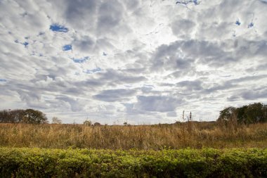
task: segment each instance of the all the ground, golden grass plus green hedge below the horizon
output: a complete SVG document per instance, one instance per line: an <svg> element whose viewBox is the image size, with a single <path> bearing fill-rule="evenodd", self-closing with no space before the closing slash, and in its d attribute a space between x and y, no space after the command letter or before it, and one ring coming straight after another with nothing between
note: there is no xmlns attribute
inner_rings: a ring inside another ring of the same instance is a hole
<svg viewBox="0 0 267 178"><path fill-rule="evenodd" d="M0 124L0 177L267 177L267 124Z"/></svg>

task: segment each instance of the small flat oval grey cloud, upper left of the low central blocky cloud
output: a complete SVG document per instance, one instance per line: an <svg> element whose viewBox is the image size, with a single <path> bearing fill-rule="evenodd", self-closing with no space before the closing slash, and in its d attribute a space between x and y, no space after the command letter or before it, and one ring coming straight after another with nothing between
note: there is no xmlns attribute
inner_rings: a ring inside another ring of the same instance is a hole
<svg viewBox="0 0 267 178"><path fill-rule="evenodd" d="M136 94L136 91L133 89L109 89L104 90L93 97L100 101L115 102L124 101L126 98L129 98L134 94Z"/></svg>

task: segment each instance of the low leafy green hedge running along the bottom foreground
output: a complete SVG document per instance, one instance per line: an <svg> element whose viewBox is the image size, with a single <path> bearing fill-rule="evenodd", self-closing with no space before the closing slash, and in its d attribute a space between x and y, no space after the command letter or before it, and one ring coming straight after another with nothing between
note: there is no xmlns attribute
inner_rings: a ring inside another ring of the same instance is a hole
<svg viewBox="0 0 267 178"><path fill-rule="evenodd" d="M0 177L267 177L267 149L0 148Z"/></svg>

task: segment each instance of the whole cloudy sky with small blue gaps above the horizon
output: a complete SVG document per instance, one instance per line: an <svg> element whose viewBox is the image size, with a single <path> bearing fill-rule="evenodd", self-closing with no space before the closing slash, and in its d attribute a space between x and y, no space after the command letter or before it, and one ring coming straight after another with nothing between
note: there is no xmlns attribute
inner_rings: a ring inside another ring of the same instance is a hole
<svg viewBox="0 0 267 178"><path fill-rule="evenodd" d="M216 120L267 101L266 0L0 0L0 110Z"/></svg>

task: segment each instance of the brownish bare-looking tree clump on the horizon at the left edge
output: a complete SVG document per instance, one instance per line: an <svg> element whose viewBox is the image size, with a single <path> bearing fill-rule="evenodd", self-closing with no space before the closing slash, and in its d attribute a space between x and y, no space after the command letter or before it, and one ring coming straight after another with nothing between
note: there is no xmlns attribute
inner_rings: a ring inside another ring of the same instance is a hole
<svg viewBox="0 0 267 178"><path fill-rule="evenodd" d="M44 124L47 123L47 118L46 115L39 110L1 110L0 122Z"/></svg>

